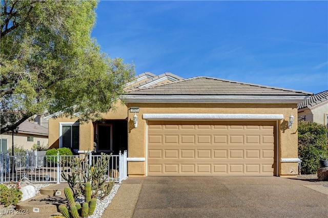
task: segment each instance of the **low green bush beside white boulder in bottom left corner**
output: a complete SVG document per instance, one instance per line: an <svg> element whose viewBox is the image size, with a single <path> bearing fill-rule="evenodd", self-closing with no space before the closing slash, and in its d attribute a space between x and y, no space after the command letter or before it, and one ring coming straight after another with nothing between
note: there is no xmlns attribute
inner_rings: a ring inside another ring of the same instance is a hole
<svg viewBox="0 0 328 218"><path fill-rule="evenodd" d="M6 186L0 184L0 202L8 207L9 205L16 205L21 199L23 192L20 190L20 186L17 183L15 186Z"/></svg>

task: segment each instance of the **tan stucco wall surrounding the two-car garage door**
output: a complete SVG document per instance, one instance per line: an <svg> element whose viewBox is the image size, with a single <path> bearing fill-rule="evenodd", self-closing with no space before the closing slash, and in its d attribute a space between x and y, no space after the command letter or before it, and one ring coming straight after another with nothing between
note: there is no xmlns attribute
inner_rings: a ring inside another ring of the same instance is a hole
<svg viewBox="0 0 328 218"><path fill-rule="evenodd" d="M146 158L147 122L142 114L282 114L278 121L279 160L297 158L297 119L292 128L288 128L291 113L297 114L297 104L177 104L177 103L129 103L128 107L139 107L138 127L133 128L134 113L128 116L128 156ZM296 116L295 116L296 117ZM280 163L279 176L297 175L297 163ZM129 176L145 176L146 162L129 162Z"/></svg>

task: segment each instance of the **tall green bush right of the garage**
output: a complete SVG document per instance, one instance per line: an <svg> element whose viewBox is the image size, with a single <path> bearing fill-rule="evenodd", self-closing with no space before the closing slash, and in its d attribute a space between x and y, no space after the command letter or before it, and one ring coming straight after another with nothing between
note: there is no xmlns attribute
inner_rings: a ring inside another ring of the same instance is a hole
<svg viewBox="0 0 328 218"><path fill-rule="evenodd" d="M298 123L298 155L301 173L314 174L319 168L320 155L328 151L327 127L315 122Z"/></svg>

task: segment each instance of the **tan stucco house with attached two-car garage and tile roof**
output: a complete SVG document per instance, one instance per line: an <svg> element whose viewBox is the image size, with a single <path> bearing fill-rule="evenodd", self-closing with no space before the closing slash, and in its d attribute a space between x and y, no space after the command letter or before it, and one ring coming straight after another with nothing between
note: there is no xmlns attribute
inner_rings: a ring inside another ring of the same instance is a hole
<svg viewBox="0 0 328 218"><path fill-rule="evenodd" d="M137 76L125 104L118 102L101 121L45 117L50 147L85 152L95 145L97 152L114 154L127 149L129 176L298 174L297 119L291 128L288 120L312 93L165 76L170 79L163 84L163 75Z"/></svg>

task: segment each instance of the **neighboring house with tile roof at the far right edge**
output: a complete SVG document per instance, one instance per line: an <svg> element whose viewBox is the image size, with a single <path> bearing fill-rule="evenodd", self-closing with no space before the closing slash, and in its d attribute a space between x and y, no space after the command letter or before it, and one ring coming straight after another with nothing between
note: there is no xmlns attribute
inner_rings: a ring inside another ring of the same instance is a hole
<svg viewBox="0 0 328 218"><path fill-rule="evenodd" d="M328 90L299 103L297 110L298 120L312 121L328 127Z"/></svg>

